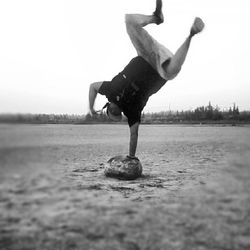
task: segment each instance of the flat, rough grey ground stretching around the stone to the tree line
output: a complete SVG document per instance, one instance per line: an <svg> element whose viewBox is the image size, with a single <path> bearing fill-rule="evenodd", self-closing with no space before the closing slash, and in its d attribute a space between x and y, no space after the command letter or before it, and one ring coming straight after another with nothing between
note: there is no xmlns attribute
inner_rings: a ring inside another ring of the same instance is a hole
<svg viewBox="0 0 250 250"><path fill-rule="evenodd" d="M0 249L250 249L250 127L0 125Z"/></svg>

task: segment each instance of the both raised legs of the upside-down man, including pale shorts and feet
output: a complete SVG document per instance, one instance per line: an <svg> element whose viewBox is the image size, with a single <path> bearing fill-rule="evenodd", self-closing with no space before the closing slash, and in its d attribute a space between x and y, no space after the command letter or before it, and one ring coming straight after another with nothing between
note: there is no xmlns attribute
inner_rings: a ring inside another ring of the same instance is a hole
<svg viewBox="0 0 250 250"><path fill-rule="evenodd" d="M171 80L180 72L186 59L191 39L195 34L203 30L204 23L200 18L195 19L190 35L173 55L171 51L157 42L143 28L150 23L160 24L163 22L162 2L157 0L156 3L156 10L153 15L127 14L126 27L138 55L148 61L161 77Z"/></svg>

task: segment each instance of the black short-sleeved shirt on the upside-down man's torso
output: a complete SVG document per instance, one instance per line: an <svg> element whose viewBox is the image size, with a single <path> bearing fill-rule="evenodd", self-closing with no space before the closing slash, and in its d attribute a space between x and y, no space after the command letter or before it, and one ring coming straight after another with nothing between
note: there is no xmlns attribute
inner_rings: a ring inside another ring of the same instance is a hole
<svg viewBox="0 0 250 250"><path fill-rule="evenodd" d="M140 122L141 111L148 98L165 82L145 59L137 56L111 82L103 82L99 93L118 105L132 126Z"/></svg>

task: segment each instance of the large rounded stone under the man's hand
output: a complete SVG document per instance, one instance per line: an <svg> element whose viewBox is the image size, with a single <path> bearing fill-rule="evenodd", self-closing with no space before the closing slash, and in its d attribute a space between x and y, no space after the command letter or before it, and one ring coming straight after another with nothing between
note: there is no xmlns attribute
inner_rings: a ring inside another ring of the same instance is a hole
<svg viewBox="0 0 250 250"><path fill-rule="evenodd" d="M108 177L134 180L141 176L142 165L138 159L118 155L109 159L105 164L104 174Z"/></svg>

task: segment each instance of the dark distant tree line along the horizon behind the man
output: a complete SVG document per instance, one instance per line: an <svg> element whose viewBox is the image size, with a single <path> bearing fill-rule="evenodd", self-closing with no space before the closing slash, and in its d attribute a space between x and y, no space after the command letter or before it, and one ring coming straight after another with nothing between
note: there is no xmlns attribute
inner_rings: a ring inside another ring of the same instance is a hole
<svg viewBox="0 0 250 250"><path fill-rule="evenodd" d="M68 115L68 114L0 114L1 123L29 123L29 124L96 124L112 123L104 114L96 116ZM250 111L240 111L234 104L227 110L221 110L211 103L186 111L161 111L142 113L141 122L144 124L169 123L250 123ZM123 117L122 123L126 123Z"/></svg>

